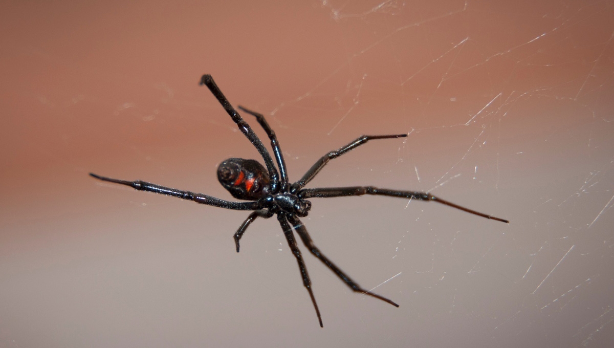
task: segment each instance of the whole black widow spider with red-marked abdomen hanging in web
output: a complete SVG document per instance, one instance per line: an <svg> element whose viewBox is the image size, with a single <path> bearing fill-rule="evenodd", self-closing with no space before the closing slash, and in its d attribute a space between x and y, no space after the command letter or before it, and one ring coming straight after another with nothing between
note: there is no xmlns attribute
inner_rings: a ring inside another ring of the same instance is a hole
<svg viewBox="0 0 614 348"><path fill-rule="evenodd" d="M177 190L176 188L150 184L149 182L144 182L141 180L127 181L112 179L109 177L98 176L93 173L90 173L90 176L99 180L113 182L115 184L127 185L139 191L160 193L162 195L188 199L190 201L195 201L196 203L207 204L214 207L222 207L225 209L233 209L236 211L252 211L244 222L241 223L241 226L239 226L238 230L236 230L234 234L237 252L239 252L239 240L247 230L247 227L249 227L249 225L254 222L256 218L270 218L273 217L273 215L277 215L277 220L279 225L281 225L281 229L284 231L288 246L294 254L294 257L297 259L298 268L300 270L301 278L303 279L303 285L311 297L311 303L313 303L314 309L316 310L317 320L320 323L320 327L324 327L322 324L322 316L320 315L320 310L317 307L316 298L313 295L313 290L311 289L311 280L309 279L305 262L303 261L301 252L298 249L297 241L294 238L292 230L296 231L301 241L303 241L303 244L305 244L307 249L309 249L309 252L313 253L315 257L319 258L319 260L330 268L330 270L333 271L336 276L343 280L343 282L348 285L352 291L377 298L392 304L392 306L395 307L398 307L398 304L385 298L384 296L380 296L371 292L370 290L360 287L360 285L354 282L354 280L352 280L346 273L341 271L338 266L325 257L320 249L316 247L311 240L305 225L303 225L300 220L300 217L306 217L309 214L309 209L311 209L311 202L307 200L308 198L381 195L405 199L419 199L421 201L433 201L446 204L446 206L451 206L470 214L509 223L508 220L504 220L503 218L473 211L472 209L445 201L444 199L438 198L437 196L433 196L426 192L389 190L387 188L377 188L373 186L304 188L305 185L308 184L317 175L317 173L322 170L322 168L324 168L328 161L340 157L344 153L348 153L349 151L356 149L360 145L363 145L370 140L406 137L407 134L360 136L340 149L333 150L322 156L322 158L317 160L316 163L309 168L309 170L305 173L305 175L303 175L303 177L301 177L300 180L290 183L288 181L286 163L284 162L284 157L279 147L279 142L275 132L266 122L265 117L262 114L258 114L257 112L246 109L245 107L238 107L243 112L254 116L257 122L260 123L260 126L262 126L266 132L266 135L271 141L271 147L273 149L273 155L275 157L277 167L273 163L273 158L271 158L270 153L268 150L266 150L265 146L262 144L262 141L260 141L260 138L258 138L247 122L243 120L237 110L231 106L228 99L223 95L219 87L217 87L217 84L211 75L203 75L200 80L200 85L206 85L211 93L216 96L217 101L222 104L223 108L226 110L226 112L228 112L228 115L230 115L232 120L239 127L239 130L241 130L247 139L252 142L258 152L260 152L262 159L265 161L266 169L264 166L262 166L262 164L255 160L228 158L228 160L220 163L217 168L217 179L219 180L220 184L222 184L222 186L226 188L234 198L243 199L249 202L226 201L224 199L203 195L202 193Z"/></svg>

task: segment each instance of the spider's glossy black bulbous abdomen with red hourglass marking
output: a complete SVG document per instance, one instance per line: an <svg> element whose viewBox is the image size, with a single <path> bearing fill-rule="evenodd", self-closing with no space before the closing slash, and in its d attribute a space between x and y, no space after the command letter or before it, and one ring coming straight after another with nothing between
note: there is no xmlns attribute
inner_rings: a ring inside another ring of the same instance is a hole
<svg viewBox="0 0 614 348"><path fill-rule="evenodd" d="M228 158L217 167L217 180L238 199L256 201L268 194L268 172L254 160Z"/></svg>

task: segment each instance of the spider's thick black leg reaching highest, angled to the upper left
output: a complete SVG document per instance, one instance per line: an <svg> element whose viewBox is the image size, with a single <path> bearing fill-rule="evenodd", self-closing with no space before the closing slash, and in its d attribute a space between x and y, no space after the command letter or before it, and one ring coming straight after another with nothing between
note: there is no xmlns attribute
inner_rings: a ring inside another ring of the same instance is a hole
<svg viewBox="0 0 614 348"><path fill-rule="evenodd" d="M203 77L201 77L200 79L200 84L206 85L209 88L211 93L216 96L217 101L222 104L228 115L230 115L230 118L232 118L232 120L239 127L239 130L241 130L241 132L247 137L247 139L252 142L256 150L260 152L260 156L262 156L262 159L265 161L266 168L268 169L269 175L271 177L271 191L276 192L277 185L279 184L279 173L277 171L277 168L275 168L275 165L273 164L273 159L271 158L270 153L268 153L268 151L266 150L265 145L262 144L262 141L260 141L260 138L256 135L256 133L254 133L252 128L247 124L247 122L245 122L245 120L243 120L243 118L241 117L241 115L239 115L235 108L232 107L228 99L223 95L220 88L217 87L217 84L213 80L213 77L211 77L211 75L203 75Z"/></svg>

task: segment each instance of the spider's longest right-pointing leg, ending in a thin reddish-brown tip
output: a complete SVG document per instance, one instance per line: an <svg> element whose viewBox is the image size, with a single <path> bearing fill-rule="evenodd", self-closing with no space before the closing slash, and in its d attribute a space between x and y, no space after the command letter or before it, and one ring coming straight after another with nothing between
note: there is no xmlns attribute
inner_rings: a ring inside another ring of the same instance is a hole
<svg viewBox="0 0 614 348"><path fill-rule="evenodd" d="M497 220L500 222L510 223L508 220L505 220L503 218L494 217L492 215L474 211L473 209L459 206L458 204L451 203L449 201L446 201L445 199L441 199L437 196L433 196L427 192L398 191L398 190L389 190L387 188L377 188L373 186L303 188L303 190L300 190L298 192L298 196L300 198L310 198L310 197L325 198L325 197L362 196L362 195L380 195L380 196L400 197L400 198L407 198L407 199L419 199L421 201L433 201L433 202L445 204L446 206L451 206L453 208L459 209L464 212L468 212L473 215L478 215L481 217L489 218L491 220Z"/></svg>

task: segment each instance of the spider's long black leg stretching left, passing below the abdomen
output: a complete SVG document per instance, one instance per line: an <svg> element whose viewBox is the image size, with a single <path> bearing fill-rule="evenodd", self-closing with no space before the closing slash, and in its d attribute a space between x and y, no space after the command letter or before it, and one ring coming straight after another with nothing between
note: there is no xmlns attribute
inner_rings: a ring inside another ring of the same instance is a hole
<svg viewBox="0 0 614 348"><path fill-rule="evenodd" d="M222 207L226 209L233 209L235 211L257 211L262 209L262 204L258 201L252 202L232 202L225 201L224 199L215 198L209 195L203 195L202 193L193 193L190 191L177 190L176 188L164 187L160 185L151 184L141 180L120 180L112 179L110 177L99 176L90 173L91 177L95 177L98 180L114 182L115 184L122 184L134 188L134 190L148 191L153 193L160 193L161 195L173 196L177 198L187 199L188 201L195 201L200 204L207 204L208 206Z"/></svg>

